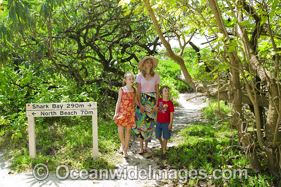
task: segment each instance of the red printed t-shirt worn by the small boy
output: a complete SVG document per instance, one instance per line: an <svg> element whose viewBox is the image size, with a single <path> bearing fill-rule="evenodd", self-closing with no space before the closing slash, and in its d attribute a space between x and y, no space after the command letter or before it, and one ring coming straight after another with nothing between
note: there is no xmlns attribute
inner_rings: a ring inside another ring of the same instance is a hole
<svg viewBox="0 0 281 187"><path fill-rule="evenodd" d="M174 103L169 101L163 101L162 98L158 99L159 110L157 112L157 122L170 123L170 112L174 112Z"/></svg>

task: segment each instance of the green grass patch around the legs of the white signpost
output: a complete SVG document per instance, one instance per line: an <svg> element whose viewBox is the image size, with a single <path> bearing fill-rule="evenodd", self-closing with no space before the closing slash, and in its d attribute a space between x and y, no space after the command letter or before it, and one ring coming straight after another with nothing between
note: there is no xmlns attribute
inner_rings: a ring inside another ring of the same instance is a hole
<svg viewBox="0 0 281 187"><path fill-rule="evenodd" d="M29 156L27 131L16 144L9 133L5 135L5 142L5 138L1 138L2 148L10 149L9 157L13 157L11 168L17 172L30 171L37 163L45 163L50 172L54 172L59 165L87 170L115 168L116 160L121 155L118 153L117 126L112 120L98 119L99 158L94 161L91 116L63 117L56 118L56 121L50 119L35 122L36 159Z"/></svg>

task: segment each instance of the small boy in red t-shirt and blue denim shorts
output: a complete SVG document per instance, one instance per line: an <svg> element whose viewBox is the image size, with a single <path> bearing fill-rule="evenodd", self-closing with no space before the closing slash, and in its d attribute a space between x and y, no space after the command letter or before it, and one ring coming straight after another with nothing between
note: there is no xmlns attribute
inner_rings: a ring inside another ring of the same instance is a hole
<svg viewBox="0 0 281 187"><path fill-rule="evenodd" d="M155 136L159 139L163 154L166 153L167 142L171 137L171 130L174 119L174 103L169 99L169 86L162 86L159 90L162 98L158 99L157 103L157 120L155 128ZM163 132L163 139L162 139Z"/></svg>

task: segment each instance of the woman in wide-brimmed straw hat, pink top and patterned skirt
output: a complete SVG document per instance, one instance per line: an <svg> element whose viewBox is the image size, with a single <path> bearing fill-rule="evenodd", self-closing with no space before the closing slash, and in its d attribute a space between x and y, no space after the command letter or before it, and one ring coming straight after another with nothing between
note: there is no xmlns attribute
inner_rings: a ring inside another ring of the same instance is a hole
<svg viewBox="0 0 281 187"><path fill-rule="evenodd" d="M151 141L152 133L156 123L156 105L159 98L159 74L154 72L158 65L158 59L146 56L138 62L140 73L136 75L137 100L139 106L135 110L135 124L133 128L139 137L139 154L152 151L148 149L148 142ZM144 149L145 141L145 149Z"/></svg>

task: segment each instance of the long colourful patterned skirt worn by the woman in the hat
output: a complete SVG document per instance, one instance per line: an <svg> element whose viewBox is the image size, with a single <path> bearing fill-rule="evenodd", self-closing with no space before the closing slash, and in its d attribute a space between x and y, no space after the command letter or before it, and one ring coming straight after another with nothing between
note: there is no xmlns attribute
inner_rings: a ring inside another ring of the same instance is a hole
<svg viewBox="0 0 281 187"><path fill-rule="evenodd" d="M145 107L145 112L140 112L139 106L135 108L135 124L133 128L135 134L143 138L144 141L151 141L155 128L157 111L152 107L156 104L156 92L140 93L140 101Z"/></svg>

